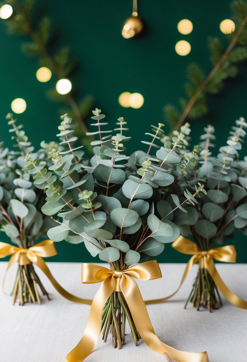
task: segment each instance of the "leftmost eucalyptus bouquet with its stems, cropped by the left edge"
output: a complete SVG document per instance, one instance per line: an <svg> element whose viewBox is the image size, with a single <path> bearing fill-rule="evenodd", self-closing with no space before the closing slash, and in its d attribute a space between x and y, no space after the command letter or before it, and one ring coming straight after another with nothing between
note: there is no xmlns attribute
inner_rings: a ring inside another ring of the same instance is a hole
<svg viewBox="0 0 247 362"><path fill-rule="evenodd" d="M46 236L54 222L41 212L43 190L34 187L30 173L24 169L24 159L28 153L42 159L45 166L46 160L49 163L49 145L46 145L43 151L33 153L34 147L22 130L23 126L16 126L13 114L9 113L6 119L8 125L12 126L9 132L13 134L12 139L16 140L18 150L9 151L4 147L4 142L0 143L0 230L5 232L13 244L21 249L28 249L40 236ZM1 257L5 256L5 253L7 255L7 245L1 245ZM40 303L37 285L49 299L33 264L19 265L12 292L13 303L17 298L20 305L26 302Z"/></svg>

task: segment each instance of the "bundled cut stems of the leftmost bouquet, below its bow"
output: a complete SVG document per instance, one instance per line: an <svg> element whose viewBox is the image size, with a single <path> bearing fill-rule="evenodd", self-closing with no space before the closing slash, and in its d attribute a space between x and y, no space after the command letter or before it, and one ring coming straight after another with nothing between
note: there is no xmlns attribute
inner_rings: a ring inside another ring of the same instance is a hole
<svg viewBox="0 0 247 362"><path fill-rule="evenodd" d="M47 299L50 300L47 291L33 268L33 265L19 265L16 281L12 291L13 304L17 301L17 299L19 300L20 306L23 306L28 302L32 302L34 304L38 302L38 304L41 304L37 286L43 295L46 295Z"/></svg>

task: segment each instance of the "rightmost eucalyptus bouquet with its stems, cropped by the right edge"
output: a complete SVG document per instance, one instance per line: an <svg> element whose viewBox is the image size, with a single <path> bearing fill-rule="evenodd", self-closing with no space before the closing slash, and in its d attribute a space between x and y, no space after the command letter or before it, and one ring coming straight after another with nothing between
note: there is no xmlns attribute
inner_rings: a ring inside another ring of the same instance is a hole
<svg viewBox="0 0 247 362"><path fill-rule="evenodd" d="M247 156L239 160L247 123L243 117L235 123L226 145L219 148L216 157L212 156L210 151L210 148L214 147L214 127L205 127L205 133L200 137L201 143L194 146L192 152L197 159L194 167L188 167L188 154L185 151L182 161L184 168L178 167L173 173L177 182L169 192L176 193L180 203L186 199L188 190L193 190L194 185L200 182L204 184L204 190L207 192L203 198L195 202L193 208L180 207L171 217L180 227L181 234L192 236L202 251L210 250L214 243L225 243L233 238L236 232L247 235ZM188 123L182 130L189 144L191 130ZM169 137L164 136L162 140L164 145L169 147ZM168 193L164 199L169 201ZM218 308L222 304L218 289L205 268L199 268L185 306L189 300L197 310L203 305L211 311L211 308Z"/></svg>

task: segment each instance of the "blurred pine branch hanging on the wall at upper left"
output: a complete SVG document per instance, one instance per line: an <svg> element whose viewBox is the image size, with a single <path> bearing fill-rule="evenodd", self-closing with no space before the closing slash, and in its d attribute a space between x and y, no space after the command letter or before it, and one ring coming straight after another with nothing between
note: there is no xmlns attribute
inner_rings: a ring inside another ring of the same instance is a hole
<svg viewBox="0 0 247 362"><path fill-rule="evenodd" d="M54 56L49 53L48 47L51 37L51 21L49 17L44 16L39 21L37 29L34 30L30 21L34 0L25 0L23 3L20 3L18 0L10 0L9 3L13 5L15 10L14 16L7 22L9 32L16 35L27 35L31 39L30 42L22 44L22 51L28 56L37 58L38 64L49 68L58 79L68 77L74 70L76 61L74 58L71 58L68 47L62 47ZM84 138L88 129L83 119L83 112L80 111L80 106L76 103L72 93L61 95L55 89L50 89L47 91L47 96L53 101L70 104L72 113L78 121ZM82 101L84 101L84 98Z"/></svg>

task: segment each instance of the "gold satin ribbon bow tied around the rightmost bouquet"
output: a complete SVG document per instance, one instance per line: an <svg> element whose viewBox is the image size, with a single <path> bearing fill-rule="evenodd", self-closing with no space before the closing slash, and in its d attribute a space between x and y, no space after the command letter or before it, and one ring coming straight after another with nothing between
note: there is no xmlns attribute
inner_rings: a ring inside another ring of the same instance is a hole
<svg viewBox="0 0 247 362"><path fill-rule="evenodd" d="M227 300L234 306L247 309L247 302L237 295L235 295L229 288L225 285L222 281L221 277L218 274L218 271L215 269L214 261L223 261L226 263L235 263L236 262L236 249L234 245L226 245L219 248L210 249L208 251L202 251L199 249L195 243L191 240L186 239L183 236L179 236L177 240L172 243L172 247L183 254L192 254L193 256L188 261L188 264L185 268L182 280L178 289L172 293L171 295L167 296L166 298L161 299L154 299L154 300L146 300L146 304L155 304L155 303L163 303L166 302L169 298L175 295L181 285L183 284L185 278L187 277L189 270L191 267L199 261L199 267L208 270L209 274L211 275L215 285L218 289L222 292L222 294L226 297Z"/></svg>

